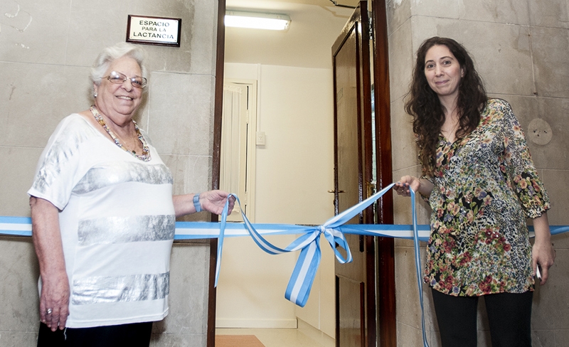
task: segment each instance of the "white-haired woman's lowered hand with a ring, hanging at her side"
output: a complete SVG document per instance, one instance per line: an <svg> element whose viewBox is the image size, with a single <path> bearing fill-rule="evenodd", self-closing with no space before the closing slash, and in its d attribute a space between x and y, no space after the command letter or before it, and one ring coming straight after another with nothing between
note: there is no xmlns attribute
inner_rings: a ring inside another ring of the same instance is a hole
<svg viewBox="0 0 569 347"><path fill-rule="evenodd" d="M51 329L65 329L69 316L69 282L65 271L41 277L40 319Z"/></svg>

